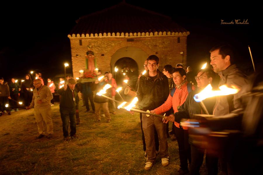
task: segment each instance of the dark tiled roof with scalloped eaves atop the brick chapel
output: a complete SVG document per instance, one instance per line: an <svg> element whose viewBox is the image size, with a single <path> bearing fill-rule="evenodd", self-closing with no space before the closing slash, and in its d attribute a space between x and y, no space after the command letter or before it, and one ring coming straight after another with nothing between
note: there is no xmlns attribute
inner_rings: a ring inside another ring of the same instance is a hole
<svg viewBox="0 0 263 175"><path fill-rule="evenodd" d="M152 32L152 35L160 35L164 32L171 35L189 34L171 17L123 2L80 17L76 22L70 36L118 36L121 33L126 36L127 34L129 34L128 36L138 36L139 33L140 36L147 32Z"/></svg>

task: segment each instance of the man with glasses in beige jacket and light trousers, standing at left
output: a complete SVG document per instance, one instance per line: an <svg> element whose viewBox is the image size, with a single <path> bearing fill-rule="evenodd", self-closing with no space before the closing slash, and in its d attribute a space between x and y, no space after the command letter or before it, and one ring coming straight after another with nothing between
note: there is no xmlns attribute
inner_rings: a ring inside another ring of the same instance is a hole
<svg viewBox="0 0 263 175"><path fill-rule="evenodd" d="M44 137L44 126L43 120L46 123L46 133L48 134L47 138L53 137L53 122L51 118L51 103L53 95L48 86L42 85L40 79L34 80L33 98L32 102L26 109L34 107L34 116L37 121L37 129L39 135L37 139Z"/></svg>

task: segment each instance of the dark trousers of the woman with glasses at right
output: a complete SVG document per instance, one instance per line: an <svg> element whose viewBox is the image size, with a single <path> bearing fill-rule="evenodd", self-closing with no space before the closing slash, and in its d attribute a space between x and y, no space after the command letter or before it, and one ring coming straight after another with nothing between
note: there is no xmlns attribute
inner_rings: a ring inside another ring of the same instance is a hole
<svg viewBox="0 0 263 175"><path fill-rule="evenodd" d="M190 175L199 175L199 170L203 164L205 149L198 148L191 145L191 165L190 165ZM205 164L207 167L208 175L217 175L218 173L218 158L213 157L209 153L206 153Z"/></svg>

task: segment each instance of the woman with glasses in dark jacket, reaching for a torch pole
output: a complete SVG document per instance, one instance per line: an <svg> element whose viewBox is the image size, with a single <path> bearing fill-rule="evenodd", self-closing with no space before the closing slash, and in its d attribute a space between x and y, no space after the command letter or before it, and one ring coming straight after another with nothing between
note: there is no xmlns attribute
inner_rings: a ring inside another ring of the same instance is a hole
<svg viewBox="0 0 263 175"><path fill-rule="evenodd" d="M198 71L197 76L195 76L198 89L190 92L184 104L178 109L178 112L174 115L170 115L167 118L167 121L164 120L164 122L180 122L182 118L194 118L195 114L204 114L205 112L200 107L200 104L193 99L193 96L198 94L209 84L211 84L212 87L217 88L219 79L220 77L212 69L201 69ZM213 114L215 98L207 98L203 100L203 103L205 104L209 114ZM199 174L200 167L203 164L205 149L195 145L191 136L189 137L189 143L191 145L191 164L189 174ZM209 152L207 152L206 166L208 174L217 174L217 164L217 157L213 157Z"/></svg>

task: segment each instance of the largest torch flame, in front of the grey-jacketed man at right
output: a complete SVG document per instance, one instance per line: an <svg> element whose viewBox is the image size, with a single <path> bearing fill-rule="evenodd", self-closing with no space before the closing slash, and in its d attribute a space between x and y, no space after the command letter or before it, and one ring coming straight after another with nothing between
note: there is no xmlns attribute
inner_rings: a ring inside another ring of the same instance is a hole
<svg viewBox="0 0 263 175"><path fill-rule="evenodd" d="M194 95L194 100L196 102L200 102L206 98L210 98L210 97L214 97L214 96L236 94L240 90L234 86L232 86L232 88L228 88L226 85L220 86L219 89L220 90L212 90L212 86L211 86L211 84L209 84L200 93Z"/></svg>

